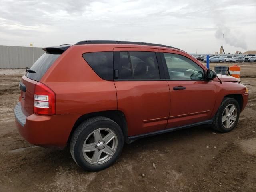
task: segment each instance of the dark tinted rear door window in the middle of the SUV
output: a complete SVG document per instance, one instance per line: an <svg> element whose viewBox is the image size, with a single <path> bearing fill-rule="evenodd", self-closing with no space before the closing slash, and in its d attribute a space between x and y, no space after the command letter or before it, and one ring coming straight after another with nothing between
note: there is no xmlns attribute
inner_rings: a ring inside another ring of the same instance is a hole
<svg viewBox="0 0 256 192"><path fill-rule="evenodd" d="M122 80L158 80L160 74L155 52L120 52L120 78Z"/></svg>

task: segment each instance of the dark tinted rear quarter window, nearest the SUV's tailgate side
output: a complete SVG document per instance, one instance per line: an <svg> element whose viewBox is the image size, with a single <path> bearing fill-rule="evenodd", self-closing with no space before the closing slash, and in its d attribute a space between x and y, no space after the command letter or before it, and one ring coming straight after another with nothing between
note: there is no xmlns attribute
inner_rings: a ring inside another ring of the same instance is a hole
<svg viewBox="0 0 256 192"><path fill-rule="evenodd" d="M100 78L104 80L113 80L114 70L112 51L84 53L83 58Z"/></svg>

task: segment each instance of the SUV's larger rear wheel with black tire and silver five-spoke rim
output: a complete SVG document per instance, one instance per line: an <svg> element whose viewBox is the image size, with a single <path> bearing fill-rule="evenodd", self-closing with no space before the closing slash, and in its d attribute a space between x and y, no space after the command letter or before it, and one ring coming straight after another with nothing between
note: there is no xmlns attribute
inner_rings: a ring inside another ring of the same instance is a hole
<svg viewBox="0 0 256 192"><path fill-rule="evenodd" d="M88 152L83 152L86 150L85 145L88 146ZM85 120L76 128L70 141L70 153L78 166L93 172L114 164L123 146L124 136L120 126L109 118L94 117Z"/></svg>

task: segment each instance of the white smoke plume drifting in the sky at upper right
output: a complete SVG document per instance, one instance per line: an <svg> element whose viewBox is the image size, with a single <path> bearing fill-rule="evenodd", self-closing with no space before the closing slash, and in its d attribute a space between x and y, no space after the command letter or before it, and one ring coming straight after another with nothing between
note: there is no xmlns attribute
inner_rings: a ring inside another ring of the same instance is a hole
<svg viewBox="0 0 256 192"><path fill-rule="evenodd" d="M218 26L215 32L215 37L217 39L222 40L223 34L224 34L224 43L234 47L242 48L244 50L247 49L247 44L244 41L244 36L240 32L237 32L237 31L234 32L230 28L227 28L225 26Z"/></svg>

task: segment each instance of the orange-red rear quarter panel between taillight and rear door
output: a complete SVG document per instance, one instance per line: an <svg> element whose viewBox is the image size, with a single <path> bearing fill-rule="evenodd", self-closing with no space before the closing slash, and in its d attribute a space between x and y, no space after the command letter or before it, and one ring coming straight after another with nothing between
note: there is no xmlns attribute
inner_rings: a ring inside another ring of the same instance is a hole
<svg viewBox="0 0 256 192"><path fill-rule="evenodd" d="M116 110L113 81L101 79L86 63L85 52L112 51L108 46L71 46L43 76L41 82L56 93L56 114L88 114Z"/></svg>

